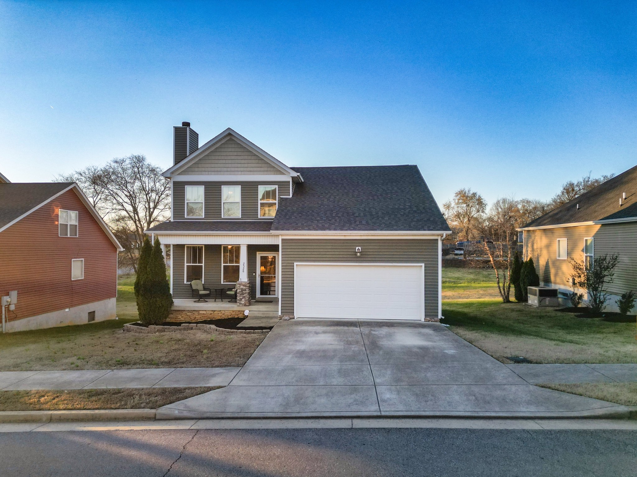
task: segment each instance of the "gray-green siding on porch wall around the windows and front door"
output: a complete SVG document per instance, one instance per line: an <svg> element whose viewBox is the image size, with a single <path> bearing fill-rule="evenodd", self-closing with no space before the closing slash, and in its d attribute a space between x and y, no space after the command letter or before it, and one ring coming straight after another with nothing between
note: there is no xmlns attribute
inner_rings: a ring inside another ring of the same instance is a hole
<svg viewBox="0 0 637 477"><path fill-rule="evenodd" d="M238 245L238 244L227 244ZM190 284L184 283L185 247L173 245L173 298L188 300L192 298ZM222 245L204 245L203 282L206 288L233 288L233 284L221 282ZM252 284L252 298L257 297L257 252L278 252L278 245L248 245L248 281ZM224 296L224 300L227 300Z"/></svg>

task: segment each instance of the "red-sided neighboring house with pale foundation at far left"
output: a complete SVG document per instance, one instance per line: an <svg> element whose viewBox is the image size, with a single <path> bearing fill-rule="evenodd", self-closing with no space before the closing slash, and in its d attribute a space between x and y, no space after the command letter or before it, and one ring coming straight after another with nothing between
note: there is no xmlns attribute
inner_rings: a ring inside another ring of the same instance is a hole
<svg viewBox="0 0 637 477"><path fill-rule="evenodd" d="M18 292L6 331L114 319L121 249L77 184L0 174L0 296Z"/></svg>

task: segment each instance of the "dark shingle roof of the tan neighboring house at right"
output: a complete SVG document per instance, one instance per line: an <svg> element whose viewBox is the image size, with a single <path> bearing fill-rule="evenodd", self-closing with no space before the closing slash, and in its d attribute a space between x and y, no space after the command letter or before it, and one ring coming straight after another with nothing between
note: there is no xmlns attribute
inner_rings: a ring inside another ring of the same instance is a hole
<svg viewBox="0 0 637 477"><path fill-rule="evenodd" d="M626 201L619 205L619 198L624 192ZM637 166L560 205L523 228L632 217L637 217Z"/></svg>

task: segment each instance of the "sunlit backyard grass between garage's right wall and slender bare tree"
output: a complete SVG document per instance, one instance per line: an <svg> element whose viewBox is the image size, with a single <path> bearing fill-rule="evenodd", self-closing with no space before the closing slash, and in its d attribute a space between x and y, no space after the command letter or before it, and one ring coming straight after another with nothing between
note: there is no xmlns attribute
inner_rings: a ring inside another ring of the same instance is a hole
<svg viewBox="0 0 637 477"><path fill-rule="evenodd" d="M443 300L499 298L496 272L492 268L442 268Z"/></svg>

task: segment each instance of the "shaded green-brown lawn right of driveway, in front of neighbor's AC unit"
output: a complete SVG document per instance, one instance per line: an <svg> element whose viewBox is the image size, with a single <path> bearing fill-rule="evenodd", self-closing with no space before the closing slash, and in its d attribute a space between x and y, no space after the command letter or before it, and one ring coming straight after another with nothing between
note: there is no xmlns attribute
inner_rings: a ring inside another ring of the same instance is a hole
<svg viewBox="0 0 637 477"><path fill-rule="evenodd" d="M502 363L637 363L634 323L576 318L499 300L443 301L443 323Z"/></svg>

